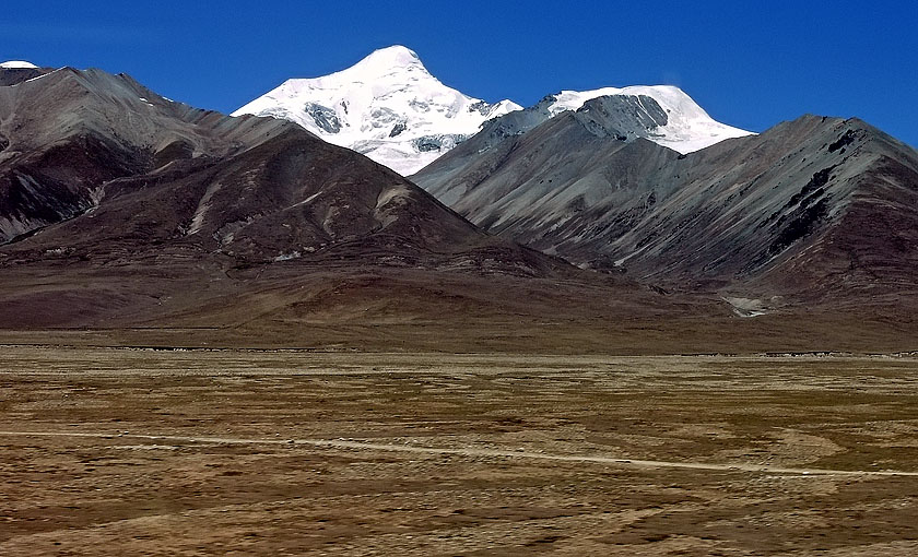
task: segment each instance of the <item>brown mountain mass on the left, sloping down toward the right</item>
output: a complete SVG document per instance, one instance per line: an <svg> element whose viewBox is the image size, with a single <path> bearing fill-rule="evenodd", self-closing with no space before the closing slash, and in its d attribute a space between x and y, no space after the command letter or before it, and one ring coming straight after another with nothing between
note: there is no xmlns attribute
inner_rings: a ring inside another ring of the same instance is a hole
<svg viewBox="0 0 918 557"><path fill-rule="evenodd" d="M0 134L5 329L505 322L585 288L607 293L600 313L682 311L485 234L291 122L196 109L128 75L0 86Z"/></svg>

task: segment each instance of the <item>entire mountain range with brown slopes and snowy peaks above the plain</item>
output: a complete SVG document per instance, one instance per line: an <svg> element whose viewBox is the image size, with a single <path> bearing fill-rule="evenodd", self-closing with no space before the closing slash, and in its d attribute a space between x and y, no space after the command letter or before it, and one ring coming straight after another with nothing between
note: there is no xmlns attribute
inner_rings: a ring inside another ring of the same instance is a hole
<svg viewBox="0 0 918 557"><path fill-rule="evenodd" d="M671 86L489 104L404 47L236 114L0 64L3 328L664 352L915 337L918 153L856 118L755 134Z"/></svg>

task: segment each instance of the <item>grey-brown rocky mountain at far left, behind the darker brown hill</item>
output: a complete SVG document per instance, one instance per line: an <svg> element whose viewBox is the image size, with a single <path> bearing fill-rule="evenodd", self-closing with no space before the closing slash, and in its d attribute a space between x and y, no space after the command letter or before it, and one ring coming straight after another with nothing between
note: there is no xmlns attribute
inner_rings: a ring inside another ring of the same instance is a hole
<svg viewBox="0 0 918 557"><path fill-rule="evenodd" d="M226 156L282 128L172 103L126 75L70 68L0 87L0 241L95 208L111 180L173 157Z"/></svg>

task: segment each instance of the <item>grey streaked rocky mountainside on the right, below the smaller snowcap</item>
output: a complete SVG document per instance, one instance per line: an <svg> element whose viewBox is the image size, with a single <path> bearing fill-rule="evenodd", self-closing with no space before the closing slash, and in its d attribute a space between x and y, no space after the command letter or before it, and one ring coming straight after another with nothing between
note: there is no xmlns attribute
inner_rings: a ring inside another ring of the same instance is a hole
<svg viewBox="0 0 918 557"><path fill-rule="evenodd" d="M916 285L913 149L808 116L680 154L644 139L660 111L642 105L602 97L515 133L498 119L413 179L491 232L642 281L757 295Z"/></svg>

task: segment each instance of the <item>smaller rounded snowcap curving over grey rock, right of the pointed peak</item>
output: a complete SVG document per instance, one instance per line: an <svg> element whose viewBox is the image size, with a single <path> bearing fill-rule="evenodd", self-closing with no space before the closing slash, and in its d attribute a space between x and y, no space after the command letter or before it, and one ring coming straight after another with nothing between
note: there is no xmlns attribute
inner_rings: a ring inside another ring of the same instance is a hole
<svg viewBox="0 0 918 557"><path fill-rule="evenodd" d="M731 138L752 135L753 132L720 123L686 95L672 85L635 85L631 87L603 87L593 91L562 91L549 105L551 116L564 110L577 110L584 103L607 95L646 95L656 100L667 112L667 125L648 137L650 141L679 153L692 153Z"/></svg>

